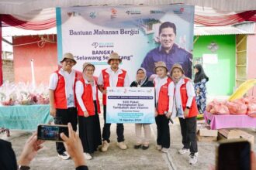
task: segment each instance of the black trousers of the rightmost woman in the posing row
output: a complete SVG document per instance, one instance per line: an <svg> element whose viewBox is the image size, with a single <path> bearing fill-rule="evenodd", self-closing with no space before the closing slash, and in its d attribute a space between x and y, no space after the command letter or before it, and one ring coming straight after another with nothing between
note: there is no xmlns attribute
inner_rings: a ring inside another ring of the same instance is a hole
<svg viewBox="0 0 256 170"><path fill-rule="evenodd" d="M178 118L181 124L182 144L184 148L189 148L191 153L197 152L196 141L196 117Z"/></svg>

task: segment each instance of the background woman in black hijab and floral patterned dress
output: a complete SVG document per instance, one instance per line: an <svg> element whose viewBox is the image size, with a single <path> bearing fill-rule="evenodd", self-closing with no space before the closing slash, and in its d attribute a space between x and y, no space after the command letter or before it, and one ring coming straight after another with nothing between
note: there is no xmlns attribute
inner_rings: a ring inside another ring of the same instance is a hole
<svg viewBox="0 0 256 170"><path fill-rule="evenodd" d="M206 73L204 72L201 64L196 64L194 66L194 72L195 72L195 100L197 107L199 109L199 114L203 114L203 112L206 110L206 82L209 80L208 76L206 76Z"/></svg>

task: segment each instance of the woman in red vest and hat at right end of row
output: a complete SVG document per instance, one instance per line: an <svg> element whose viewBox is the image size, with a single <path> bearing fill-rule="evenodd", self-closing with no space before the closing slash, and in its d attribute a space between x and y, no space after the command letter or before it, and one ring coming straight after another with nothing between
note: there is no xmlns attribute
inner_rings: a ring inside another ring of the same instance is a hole
<svg viewBox="0 0 256 170"><path fill-rule="evenodd" d="M172 107L171 117L178 117L181 131L183 148L179 154L190 151L189 164L197 162L198 150L196 141L196 116L198 109L195 103L195 90L192 80L184 76L184 71L180 64L171 67L171 80L168 87L170 97L169 107Z"/></svg>

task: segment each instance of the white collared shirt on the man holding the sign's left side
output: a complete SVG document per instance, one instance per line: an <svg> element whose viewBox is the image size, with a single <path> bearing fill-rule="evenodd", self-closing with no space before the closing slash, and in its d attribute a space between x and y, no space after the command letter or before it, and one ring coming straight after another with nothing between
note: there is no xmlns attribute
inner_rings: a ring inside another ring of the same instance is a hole
<svg viewBox="0 0 256 170"><path fill-rule="evenodd" d="M109 73L109 84L110 87L116 87L117 81L118 81L118 75L123 73L121 69L118 69L116 72L111 70L111 68L106 69L106 73ZM103 85L103 76L102 72L99 75L98 84ZM124 77L124 85L123 87L130 87L129 77L126 73L126 77Z"/></svg>

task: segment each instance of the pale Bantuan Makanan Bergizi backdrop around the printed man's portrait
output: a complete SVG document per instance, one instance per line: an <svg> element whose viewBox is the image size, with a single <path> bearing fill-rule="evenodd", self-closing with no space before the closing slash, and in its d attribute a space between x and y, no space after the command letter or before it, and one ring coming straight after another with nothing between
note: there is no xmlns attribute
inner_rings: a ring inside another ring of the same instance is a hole
<svg viewBox="0 0 256 170"><path fill-rule="evenodd" d="M120 66L130 81L144 57L159 46L158 29L162 22L177 27L175 43L192 52L194 6L100 6L57 8L58 61L63 53L73 53L81 71L82 64L95 64L95 76L109 67L109 53L122 57Z"/></svg>

